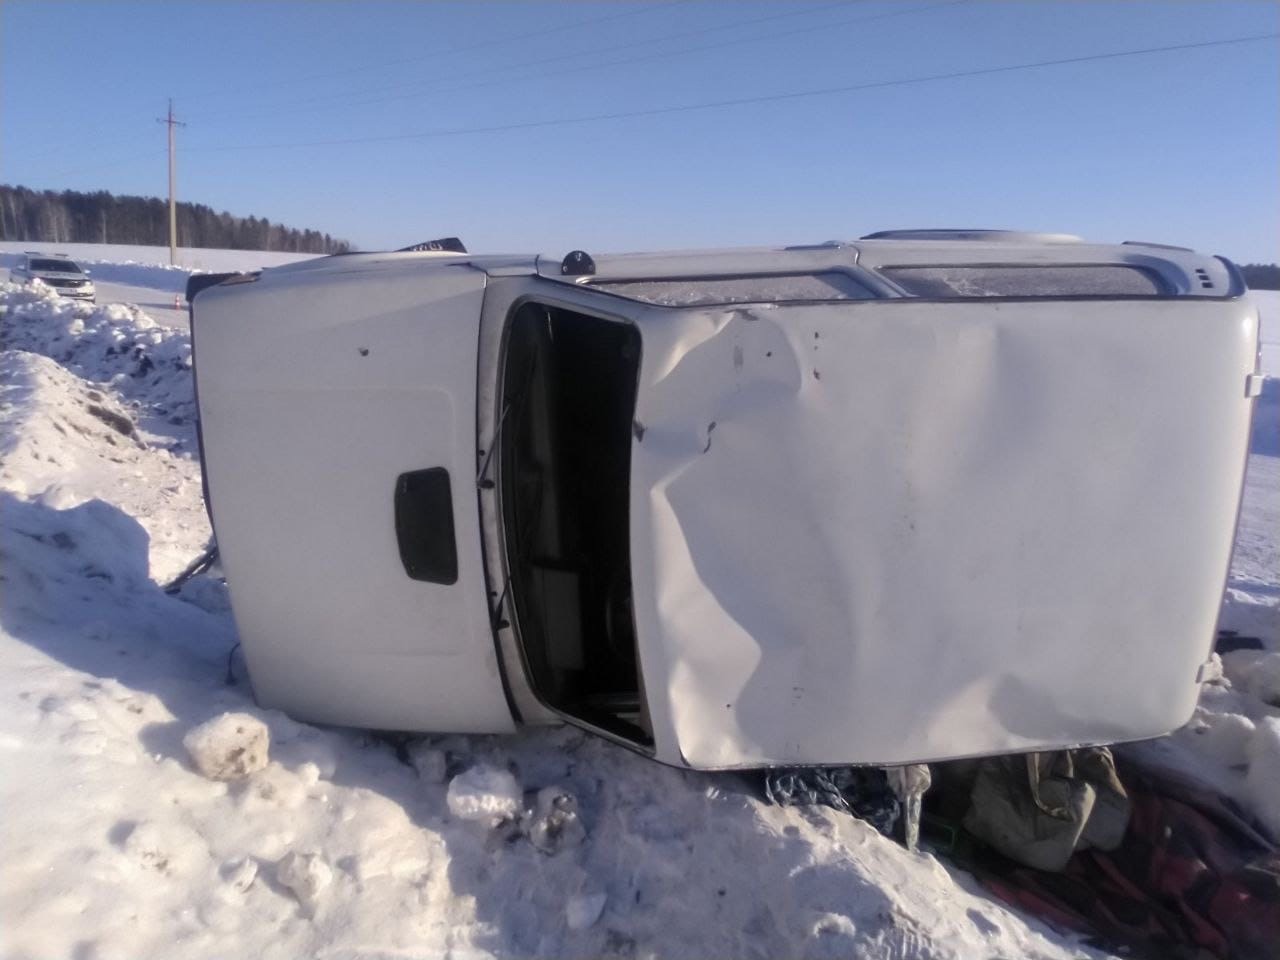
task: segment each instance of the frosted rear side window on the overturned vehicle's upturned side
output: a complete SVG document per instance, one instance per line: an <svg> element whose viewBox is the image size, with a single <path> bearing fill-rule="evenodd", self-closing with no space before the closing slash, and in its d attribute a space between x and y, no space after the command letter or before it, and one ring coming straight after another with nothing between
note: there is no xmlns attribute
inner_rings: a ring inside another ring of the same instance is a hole
<svg viewBox="0 0 1280 960"><path fill-rule="evenodd" d="M886 266L881 273L913 297L1158 297L1152 271L1119 264Z"/></svg>

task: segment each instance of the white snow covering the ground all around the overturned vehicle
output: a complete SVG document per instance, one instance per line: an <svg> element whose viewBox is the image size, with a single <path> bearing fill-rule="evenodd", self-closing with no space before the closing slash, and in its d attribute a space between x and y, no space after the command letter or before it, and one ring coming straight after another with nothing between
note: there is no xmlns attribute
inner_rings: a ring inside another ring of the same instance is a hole
<svg viewBox="0 0 1280 960"><path fill-rule="evenodd" d="M129 269L143 291L186 279ZM210 531L189 338L140 306L0 284L6 957L1094 955L929 852L737 777L572 730L397 750L259 709L225 589L157 586ZM1275 385L1224 607L1267 650L1226 655L1193 723L1140 749L1280 828Z"/></svg>

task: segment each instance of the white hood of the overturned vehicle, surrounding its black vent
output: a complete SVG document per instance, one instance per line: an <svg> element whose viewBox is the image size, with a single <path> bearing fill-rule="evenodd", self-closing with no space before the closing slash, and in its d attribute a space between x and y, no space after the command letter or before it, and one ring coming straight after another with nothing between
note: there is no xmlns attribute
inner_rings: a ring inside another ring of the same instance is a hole
<svg viewBox="0 0 1280 960"><path fill-rule="evenodd" d="M475 493L485 275L439 255L408 260L430 266L337 257L332 271L269 270L200 294L218 544L264 705L360 727L507 732ZM451 585L406 575L393 517L397 477L442 466Z"/></svg>

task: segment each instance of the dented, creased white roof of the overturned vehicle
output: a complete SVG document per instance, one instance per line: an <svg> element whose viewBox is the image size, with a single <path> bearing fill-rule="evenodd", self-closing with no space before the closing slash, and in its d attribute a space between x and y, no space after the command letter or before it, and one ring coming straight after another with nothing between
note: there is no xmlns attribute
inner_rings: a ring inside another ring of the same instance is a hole
<svg viewBox="0 0 1280 960"><path fill-rule="evenodd" d="M899 764L1189 718L1251 303L655 308L640 329L632 585L659 759Z"/></svg>

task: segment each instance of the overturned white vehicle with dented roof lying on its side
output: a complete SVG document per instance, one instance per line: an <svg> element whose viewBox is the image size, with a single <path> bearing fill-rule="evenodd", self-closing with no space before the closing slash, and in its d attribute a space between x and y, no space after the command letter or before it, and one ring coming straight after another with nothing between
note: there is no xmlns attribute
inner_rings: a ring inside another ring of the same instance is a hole
<svg viewBox="0 0 1280 960"><path fill-rule="evenodd" d="M202 453L255 692L708 769L1164 733L1231 550L1243 293L1181 248L982 230L210 287Z"/></svg>

